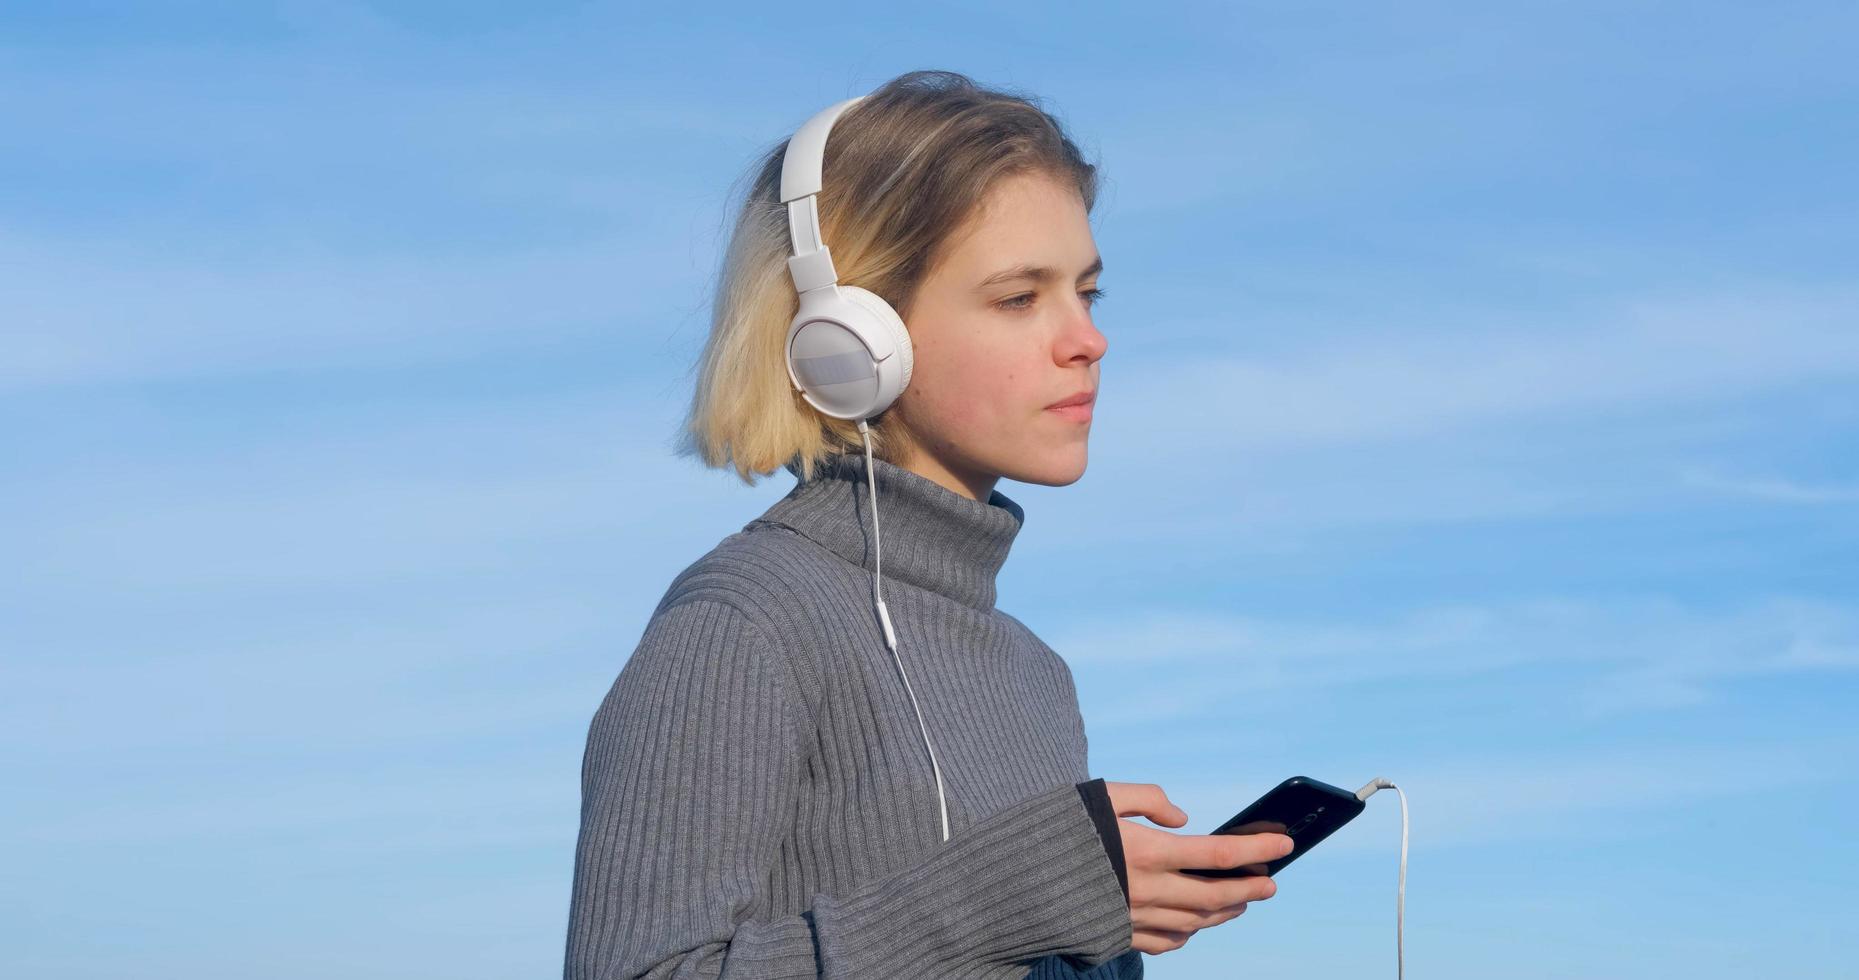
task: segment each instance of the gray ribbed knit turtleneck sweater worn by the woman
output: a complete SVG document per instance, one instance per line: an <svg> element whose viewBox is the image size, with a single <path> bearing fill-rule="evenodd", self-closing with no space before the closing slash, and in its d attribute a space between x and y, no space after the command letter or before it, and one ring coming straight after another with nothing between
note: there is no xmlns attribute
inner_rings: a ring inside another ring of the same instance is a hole
<svg viewBox="0 0 1859 980"><path fill-rule="evenodd" d="M569 980L1138 978L1071 669L995 608L1024 521L863 454L673 578L595 712Z"/></svg>

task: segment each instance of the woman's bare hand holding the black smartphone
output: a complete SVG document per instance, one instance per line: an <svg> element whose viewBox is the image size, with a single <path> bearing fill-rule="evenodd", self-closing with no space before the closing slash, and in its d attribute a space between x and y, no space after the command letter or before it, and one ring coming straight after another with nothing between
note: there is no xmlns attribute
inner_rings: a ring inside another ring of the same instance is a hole
<svg viewBox="0 0 1859 980"><path fill-rule="evenodd" d="M1145 828L1121 816L1147 816L1166 828L1188 826L1188 814L1169 803L1154 783L1112 783L1110 805L1123 831L1123 865L1130 883L1130 945L1156 954L1177 950L1206 926L1246 911L1247 902L1277 894L1264 863L1285 857L1292 839L1283 833L1195 835ZM1259 865L1251 878L1201 878L1182 868Z"/></svg>

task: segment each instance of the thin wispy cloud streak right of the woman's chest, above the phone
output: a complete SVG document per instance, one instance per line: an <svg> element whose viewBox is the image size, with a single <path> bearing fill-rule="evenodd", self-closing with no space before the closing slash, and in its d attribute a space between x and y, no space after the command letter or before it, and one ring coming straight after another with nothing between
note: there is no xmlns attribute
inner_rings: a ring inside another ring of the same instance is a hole
<svg viewBox="0 0 1859 980"><path fill-rule="evenodd" d="M1740 679L1859 669L1859 608L1770 597L1720 610L1673 599L1439 604L1378 621L1311 623L1205 610L1069 621L1054 649L1119 694L1093 723L1218 712L1266 694L1517 668L1575 671L1593 716L1712 701Z"/></svg>

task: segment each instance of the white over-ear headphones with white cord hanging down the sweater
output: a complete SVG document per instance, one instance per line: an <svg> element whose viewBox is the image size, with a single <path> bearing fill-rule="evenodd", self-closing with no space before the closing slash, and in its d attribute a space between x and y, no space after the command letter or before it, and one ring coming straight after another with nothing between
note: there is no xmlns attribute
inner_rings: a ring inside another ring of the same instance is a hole
<svg viewBox="0 0 1859 980"><path fill-rule="evenodd" d="M781 203L788 206L788 238L794 257L788 275L801 298L799 312L788 324L788 379L809 405L833 418L855 418L864 439L864 474L872 493L872 545L877 560L872 567L872 601L877 621L885 629L885 645L898 662L903 690L916 709L916 727L930 749L930 768L935 772L935 798L943 813L943 841L948 841L948 798L943 794L943 766L930 744L930 725L916 705L916 692L903 673L898 656L898 632L890 625L890 610L879 591L879 569L885 567L885 545L877 534L877 482L872 463L872 431L866 420L890 407L911 383L911 335L903 318L883 298L859 286L838 285L833 251L820 240L820 175L825 169L825 136L842 112L857 104L848 99L827 106L788 138L781 156Z"/></svg>

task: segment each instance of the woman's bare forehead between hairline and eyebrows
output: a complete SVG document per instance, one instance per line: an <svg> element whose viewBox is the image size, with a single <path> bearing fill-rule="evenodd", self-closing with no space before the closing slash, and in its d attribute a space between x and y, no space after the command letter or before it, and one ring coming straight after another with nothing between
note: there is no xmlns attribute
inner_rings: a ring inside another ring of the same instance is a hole
<svg viewBox="0 0 1859 980"><path fill-rule="evenodd" d="M1097 257L1078 190L1047 175L1004 177L944 244L937 275L969 285L1006 266L1052 266L1067 277Z"/></svg>

